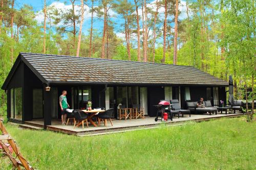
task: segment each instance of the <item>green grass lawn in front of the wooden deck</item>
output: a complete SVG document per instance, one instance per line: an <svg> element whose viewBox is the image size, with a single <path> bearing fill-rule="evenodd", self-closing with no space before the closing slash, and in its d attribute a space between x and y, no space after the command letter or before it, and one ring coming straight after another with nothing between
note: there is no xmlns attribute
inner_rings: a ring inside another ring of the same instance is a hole
<svg viewBox="0 0 256 170"><path fill-rule="evenodd" d="M6 127L36 169L256 169L255 125L223 118L90 137Z"/></svg>

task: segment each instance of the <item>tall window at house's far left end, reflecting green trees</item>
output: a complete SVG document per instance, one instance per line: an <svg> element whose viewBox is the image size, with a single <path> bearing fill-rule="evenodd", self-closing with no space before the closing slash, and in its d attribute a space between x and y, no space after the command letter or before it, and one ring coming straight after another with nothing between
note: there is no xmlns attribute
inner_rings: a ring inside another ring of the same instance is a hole
<svg viewBox="0 0 256 170"><path fill-rule="evenodd" d="M22 88L12 88L11 98L11 118L22 119Z"/></svg>

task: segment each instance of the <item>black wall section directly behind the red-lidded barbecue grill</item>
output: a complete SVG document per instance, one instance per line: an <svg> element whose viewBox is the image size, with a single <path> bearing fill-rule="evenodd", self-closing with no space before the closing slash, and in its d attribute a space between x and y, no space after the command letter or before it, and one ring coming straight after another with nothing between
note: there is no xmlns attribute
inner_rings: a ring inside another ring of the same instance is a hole
<svg viewBox="0 0 256 170"><path fill-rule="evenodd" d="M147 88L147 98L148 98L148 115L156 116L157 109L153 105L157 105L160 100L164 99L164 88L162 87L148 87Z"/></svg>

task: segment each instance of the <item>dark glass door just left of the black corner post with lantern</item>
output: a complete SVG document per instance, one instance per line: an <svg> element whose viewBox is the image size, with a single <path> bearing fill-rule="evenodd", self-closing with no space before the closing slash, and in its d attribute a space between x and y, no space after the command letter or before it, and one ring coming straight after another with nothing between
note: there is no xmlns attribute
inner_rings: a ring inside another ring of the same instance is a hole
<svg viewBox="0 0 256 170"><path fill-rule="evenodd" d="M33 119L43 118L42 89L33 89Z"/></svg>

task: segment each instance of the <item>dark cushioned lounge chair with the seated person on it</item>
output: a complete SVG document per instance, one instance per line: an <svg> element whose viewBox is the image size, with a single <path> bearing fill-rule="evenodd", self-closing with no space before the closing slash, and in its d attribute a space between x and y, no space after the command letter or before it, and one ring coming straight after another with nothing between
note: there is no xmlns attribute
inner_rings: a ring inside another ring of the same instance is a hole
<svg viewBox="0 0 256 170"><path fill-rule="evenodd" d="M217 108L197 108L197 102L186 102L186 107L190 112L194 112L195 114L204 114L204 113L215 113L217 114Z"/></svg>

